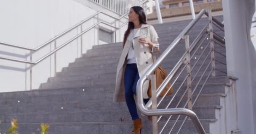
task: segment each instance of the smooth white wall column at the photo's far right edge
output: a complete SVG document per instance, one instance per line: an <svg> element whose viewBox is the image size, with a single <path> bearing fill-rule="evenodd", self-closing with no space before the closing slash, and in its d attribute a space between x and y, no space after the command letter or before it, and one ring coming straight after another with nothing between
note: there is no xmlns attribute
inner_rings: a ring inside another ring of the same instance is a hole
<svg viewBox="0 0 256 134"><path fill-rule="evenodd" d="M255 0L222 2L227 71L228 75L239 78L237 81L238 127L243 134L256 134L256 51L250 37Z"/></svg>

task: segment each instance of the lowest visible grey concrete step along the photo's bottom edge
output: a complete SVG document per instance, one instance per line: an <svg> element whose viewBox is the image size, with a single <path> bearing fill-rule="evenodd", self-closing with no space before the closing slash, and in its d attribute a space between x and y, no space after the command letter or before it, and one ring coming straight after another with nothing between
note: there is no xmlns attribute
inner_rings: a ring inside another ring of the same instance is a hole
<svg viewBox="0 0 256 134"><path fill-rule="evenodd" d="M206 132L209 132L209 123L215 122L216 119L202 119L200 120ZM152 122L147 121L143 118L142 122L144 127L142 129L143 134L152 134ZM159 128L165 124L166 121L160 121ZM19 121L18 121L19 123ZM47 122L46 122L47 123ZM182 121L177 122L177 126L180 126ZM172 126L174 121L169 122L167 125ZM132 121L116 121L116 122L68 122L68 123L49 123L49 134L129 134L133 129ZM7 130L10 124L0 124L1 130ZM19 128L17 129L20 134L31 134L32 132L40 133L37 131L40 128L40 123L19 123ZM164 129L163 134L168 134L170 131ZM173 133L176 134L179 127L173 129ZM40 129L39 129L40 130ZM192 124L191 120L185 122L183 129L181 129L181 134L185 133L197 133L195 126Z"/></svg>

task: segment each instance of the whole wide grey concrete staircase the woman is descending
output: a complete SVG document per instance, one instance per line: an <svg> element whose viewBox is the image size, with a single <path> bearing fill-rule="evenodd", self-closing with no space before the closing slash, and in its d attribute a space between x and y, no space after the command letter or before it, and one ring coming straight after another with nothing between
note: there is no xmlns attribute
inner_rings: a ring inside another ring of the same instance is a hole
<svg viewBox="0 0 256 134"><path fill-rule="evenodd" d="M217 17L222 21L222 16ZM159 38L160 49L163 52L169 44L179 35L187 26L189 21L180 21L173 23L164 23L154 25ZM208 22L208 18L203 18L189 32L190 42L195 39L197 34ZM214 31L224 36L224 33L214 27ZM203 44L203 48L206 43ZM225 54L225 49L215 44L215 49ZM169 72L175 63L184 54L185 45L181 41L169 58L163 62L163 67ZM203 49L200 48L200 51ZM198 65L192 71L192 76L198 70L203 59L210 51L208 48L199 60ZM122 51L122 43L105 44L93 46L83 57L77 58L75 62L64 67L56 77L51 77L46 83L40 85L39 90L0 93L0 130L6 130L12 118L18 119L19 134L31 134L35 132L40 134L40 123L50 125L49 134L130 134L132 130L132 121L128 108L123 103L113 103L113 93L115 88L115 75L117 62ZM200 54L195 54L198 58ZM216 59L226 63L226 58L215 54ZM192 65L197 59L193 57ZM195 87L204 68L209 63L210 57L203 64L203 69L195 78L192 88ZM216 62L216 68L227 72L227 67ZM210 69L210 67L209 67ZM223 106L221 100L225 98L226 74L216 71L216 77L210 77L198 98L193 111L197 113L204 129L207 133L211 132L212 125L218 125L216 111L221 111ZM184 80L185 71L174 84L174 92ZM203 82L208 73L203 76ZM202 87L200 82L197 91ZM170 108L174 108L181 98L182 91L186 89L186 83L181 88L178 96L174 99ZM46 90L47 89L47 90ZM165 107L168 100L161 103L160 108ZM179 107L183 107L187 97L181 101ZM193 95L193 99L195 95ZM19 102L18 102L19 101ZM147 120L146 116L139 115L144 123L143 134L152 134L152 122ZM167 129L162 134L168 134L172 124L177 116L173 116L168 123ZM159 122L159 130L165 124L168 116L163 116ZM176 134L184 116L181 116L172 134ZM188 119L181 129L181 134L197 134L192 121Z"/></svg>

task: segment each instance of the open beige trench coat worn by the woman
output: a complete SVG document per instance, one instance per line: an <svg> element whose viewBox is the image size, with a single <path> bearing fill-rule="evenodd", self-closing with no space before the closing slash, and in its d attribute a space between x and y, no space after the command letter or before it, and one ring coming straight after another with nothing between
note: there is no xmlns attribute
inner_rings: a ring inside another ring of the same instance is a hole
<svg viewBox="0 0 256 134"><path fill-rule="evenodd" d="M148 44L139 44L139 39L142 37L150 39L150 41L153 43L152 49L149 47ZM157 32L155 31L155 28L149 24L142 24L141 28L137 31L136 35L134 36L133 46L139 77L141 77L153 64L152 53L157 52L157 49L159 49L159 43L157 39L158 35ZM127 39L117 65L114 102L125 101L124 71L127 63L127 54L130 47L131 40ZM143 98L149 98L147 95L148 87L149 80L147 80L143 85Z"/></svg>

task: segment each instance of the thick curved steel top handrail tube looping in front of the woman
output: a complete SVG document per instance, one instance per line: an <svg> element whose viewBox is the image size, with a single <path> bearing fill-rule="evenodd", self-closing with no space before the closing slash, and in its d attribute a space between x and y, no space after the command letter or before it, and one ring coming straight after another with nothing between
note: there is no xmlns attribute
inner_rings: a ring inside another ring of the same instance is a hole
<svg viewBox="0 0 256 134"><path fill-rule="evenodd" d="M192 119L194 125L196 126L196 128L200 134L205 134L205 130L203 129L202 124L200 123L199 119L197 118L196 114L193 111L191 111L187 108L148 109L150 106L152 106L152 100L150 99L149 102L144 106L142 89L143 89L144 82L146 82L146 80L149 80L148 76L151 75L157 69L157 67L163 62L163 60L167 57L167 55L174 49L174 47L179 43L179 41L181 41L182 37L190 31L190 29L197 23L197 21L199 21L200 18L202 18L203 15L209 16L209 13L205 9L201 10L200 13L196 16L196 18L189 23L189 25L179 34L179 36L177 36L177 38L174 39L174 41L170 44L170 46L168 46L168 48L163 52L163 54L160 55L160 57L155 61L155 63L152 64L152 66L149 67L149 69L144 73L144 75L141 76L141 78L139 79L139 81L137 83L137 103L138 103L138 108L141 111L141 113L143 113L145 115L149 115L149 116L158 116L158 115L160 115L160 116L162 116L162 115L186 115L186 116L189 116ZM213 22L215 22L216 24L218 24L220 27L224 27L224 25L222 23L220 23L216 18L212 17L211 20ZM210 23L211 23L211 21L210 21ZM201 33L203 33L203 31ZM221 43L224 44L224 40L220 39L218 36L214 36L214 39L217 39L218 41L220 41ZM194 42L198 42L198 41L195 40ZM192 45L192 47L194 48L193 45ZM211 60L211 62L212 61L213 60ZM181 63L178 62L175 65L175 67L173 68L173 70L177 70L180 67L180 64ZM171 75L171 73L170 73L170 75ZM167 77L166 79L168 79L168 80L164 80L164 82L158 87L158 89L156 91L156 98L158 98L160 96L160 93L162 93L165 86L169 82L170 77ZM187 90L188 90L188 88L187 88Z"/></svg>

